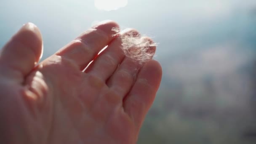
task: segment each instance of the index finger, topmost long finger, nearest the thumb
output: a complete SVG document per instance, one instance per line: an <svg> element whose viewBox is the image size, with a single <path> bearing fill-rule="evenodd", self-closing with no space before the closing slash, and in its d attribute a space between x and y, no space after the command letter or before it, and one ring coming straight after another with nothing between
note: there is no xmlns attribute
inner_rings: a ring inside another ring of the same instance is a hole
<svg viewBox="0 0 256 144"><path fill-rule="evenodd" d="M114 21L102 21L61 48L56 55L75 61L83 70L99 51L115 38L113 35L117 32L112 30L114 27L119 28Z"/></svg>

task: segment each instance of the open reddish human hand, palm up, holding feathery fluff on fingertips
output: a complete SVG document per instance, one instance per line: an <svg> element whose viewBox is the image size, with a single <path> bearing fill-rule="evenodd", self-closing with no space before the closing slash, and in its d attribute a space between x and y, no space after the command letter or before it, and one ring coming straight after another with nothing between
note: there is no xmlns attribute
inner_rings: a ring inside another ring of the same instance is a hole
<svg viewBox="0 0 256 144"><path fill-rule="evenodd" d="M155 60L141 65L124 56L113 27L119 26L103 21L39 64L42 37L34 24L6 43L0 52L1 144L136 143L162 69ZM120 35L129 32L139 33Z"/></svg>

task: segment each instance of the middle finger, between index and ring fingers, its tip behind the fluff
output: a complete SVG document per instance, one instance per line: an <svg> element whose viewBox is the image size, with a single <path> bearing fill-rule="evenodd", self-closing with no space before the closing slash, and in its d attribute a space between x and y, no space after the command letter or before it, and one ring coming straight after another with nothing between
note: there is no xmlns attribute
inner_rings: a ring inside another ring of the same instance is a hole
<svg viewBox="0 0 256 144"><path fill-rule="evenodd" d="M120 37L133 33L139 35L134 29L125 29L120 32ZM107 80L115 71L117 66L123 61L125 55L122 50L122 40L117 37L112 43L93 61L93 63L85 70L88 74L93 74L102 80Z"/></svg>

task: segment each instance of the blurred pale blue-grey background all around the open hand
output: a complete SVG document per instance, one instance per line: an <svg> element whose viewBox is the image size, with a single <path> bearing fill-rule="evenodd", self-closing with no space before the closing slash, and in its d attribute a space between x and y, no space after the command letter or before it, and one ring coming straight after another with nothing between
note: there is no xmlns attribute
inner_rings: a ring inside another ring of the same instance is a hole
<svg viewBox="0 0 256 144"><path fill-rule="evenodd" d="M138 144L256 144L255 0L1 0L0 47L33 22L45 59L105 19L158 43L163 80Z"/></svg>

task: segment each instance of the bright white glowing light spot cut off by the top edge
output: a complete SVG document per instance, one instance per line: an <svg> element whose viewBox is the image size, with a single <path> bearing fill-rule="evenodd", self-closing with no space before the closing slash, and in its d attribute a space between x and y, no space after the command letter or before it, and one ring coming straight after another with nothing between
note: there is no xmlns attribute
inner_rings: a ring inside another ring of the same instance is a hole
<svg viewBox="0 0 256 144"><path fill-rule="evenodd" d="M125 7L128 0L94 0L95 7L99 10L112 11Z"/></svg>

